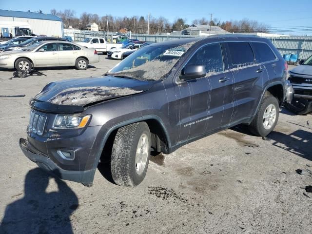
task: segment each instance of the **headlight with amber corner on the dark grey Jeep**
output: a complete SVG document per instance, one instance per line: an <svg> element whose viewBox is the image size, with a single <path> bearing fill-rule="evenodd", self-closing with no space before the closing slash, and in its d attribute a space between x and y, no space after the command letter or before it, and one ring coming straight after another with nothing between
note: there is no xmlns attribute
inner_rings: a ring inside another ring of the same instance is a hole
<svg viewBox="0 0 312 234"><path fill-rule="evenodd" d="M89 122L91 115L57 115L54 120L54 129L75 129L84 128Z"/></svg>

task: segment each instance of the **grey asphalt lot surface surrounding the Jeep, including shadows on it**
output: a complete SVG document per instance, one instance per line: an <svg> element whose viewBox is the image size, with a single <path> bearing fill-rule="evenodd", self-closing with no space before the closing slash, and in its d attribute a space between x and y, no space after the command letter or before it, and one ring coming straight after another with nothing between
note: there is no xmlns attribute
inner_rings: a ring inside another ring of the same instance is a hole
<svg viewBox="0 0 312 234"><path fill-rule="evenodd" d="M301 233L311 234L312 115L280 110L263 140L246 127L202 138L170 155L152 157L136 188L113 184L105 165L93 187L62 181L21 152L28 101L48 82L99 76L118 61L86 71L39 69L44 76L13 78L0 70L0 233ZM8 220L10 222L8 222ZM13 220L13 221L12 221Z"/></svg>

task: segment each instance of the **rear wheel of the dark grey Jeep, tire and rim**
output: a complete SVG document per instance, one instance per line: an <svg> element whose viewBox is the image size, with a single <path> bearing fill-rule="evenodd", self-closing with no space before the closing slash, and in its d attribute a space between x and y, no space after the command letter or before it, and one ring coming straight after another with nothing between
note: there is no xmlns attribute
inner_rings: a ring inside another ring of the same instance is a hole
<svg viewBox="0 0 312 234"><path fill-rule="evenodd" d="M257 114L249 125L250 131L260 137L266 137L277 124L279 104L271 94L262 98Z"/></svg>

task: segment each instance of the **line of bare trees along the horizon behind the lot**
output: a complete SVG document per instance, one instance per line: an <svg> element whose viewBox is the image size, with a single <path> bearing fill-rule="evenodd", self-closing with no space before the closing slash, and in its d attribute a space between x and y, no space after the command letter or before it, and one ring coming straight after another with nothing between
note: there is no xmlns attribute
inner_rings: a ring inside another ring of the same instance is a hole
<svg viewBox="0 0 312 234"><path fill-rule="evenodd" d="M101 31L107 31L108 21L108 29L110 32L117 32L121 28L126 28L132 33L147 33L149 30L150 34L158 34L181 31L190 26L186 23L187 19L178 18L174 20L174 22L170 22L168 19L162 16L116 17L112 15L98 16L98 14L83 12L78 18L76 16L76 12L71 9L65 9L64 11L57 11L56 9L52 9L51 14L61 18L64 22L65 28L72 26L73 28L86 29L86 25L88 23L95 22L100 26ZM266 33L270 29L269 25L267 24L248 19L220 21L216 18L210 20L203 17L201 19L192 20L192 23L219 26L220 28L231 33Z"/></svg>

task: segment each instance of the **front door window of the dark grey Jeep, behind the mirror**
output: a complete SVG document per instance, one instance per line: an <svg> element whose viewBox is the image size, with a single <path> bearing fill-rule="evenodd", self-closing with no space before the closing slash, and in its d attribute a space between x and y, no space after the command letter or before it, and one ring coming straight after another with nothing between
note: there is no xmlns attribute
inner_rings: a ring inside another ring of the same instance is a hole
<svg viewBox="0 0 312 234"><path fill-rule="evenodd" d="M187 65L204 65L207 73L224 71L221 45L217 43L200 48Z"/></svg>

